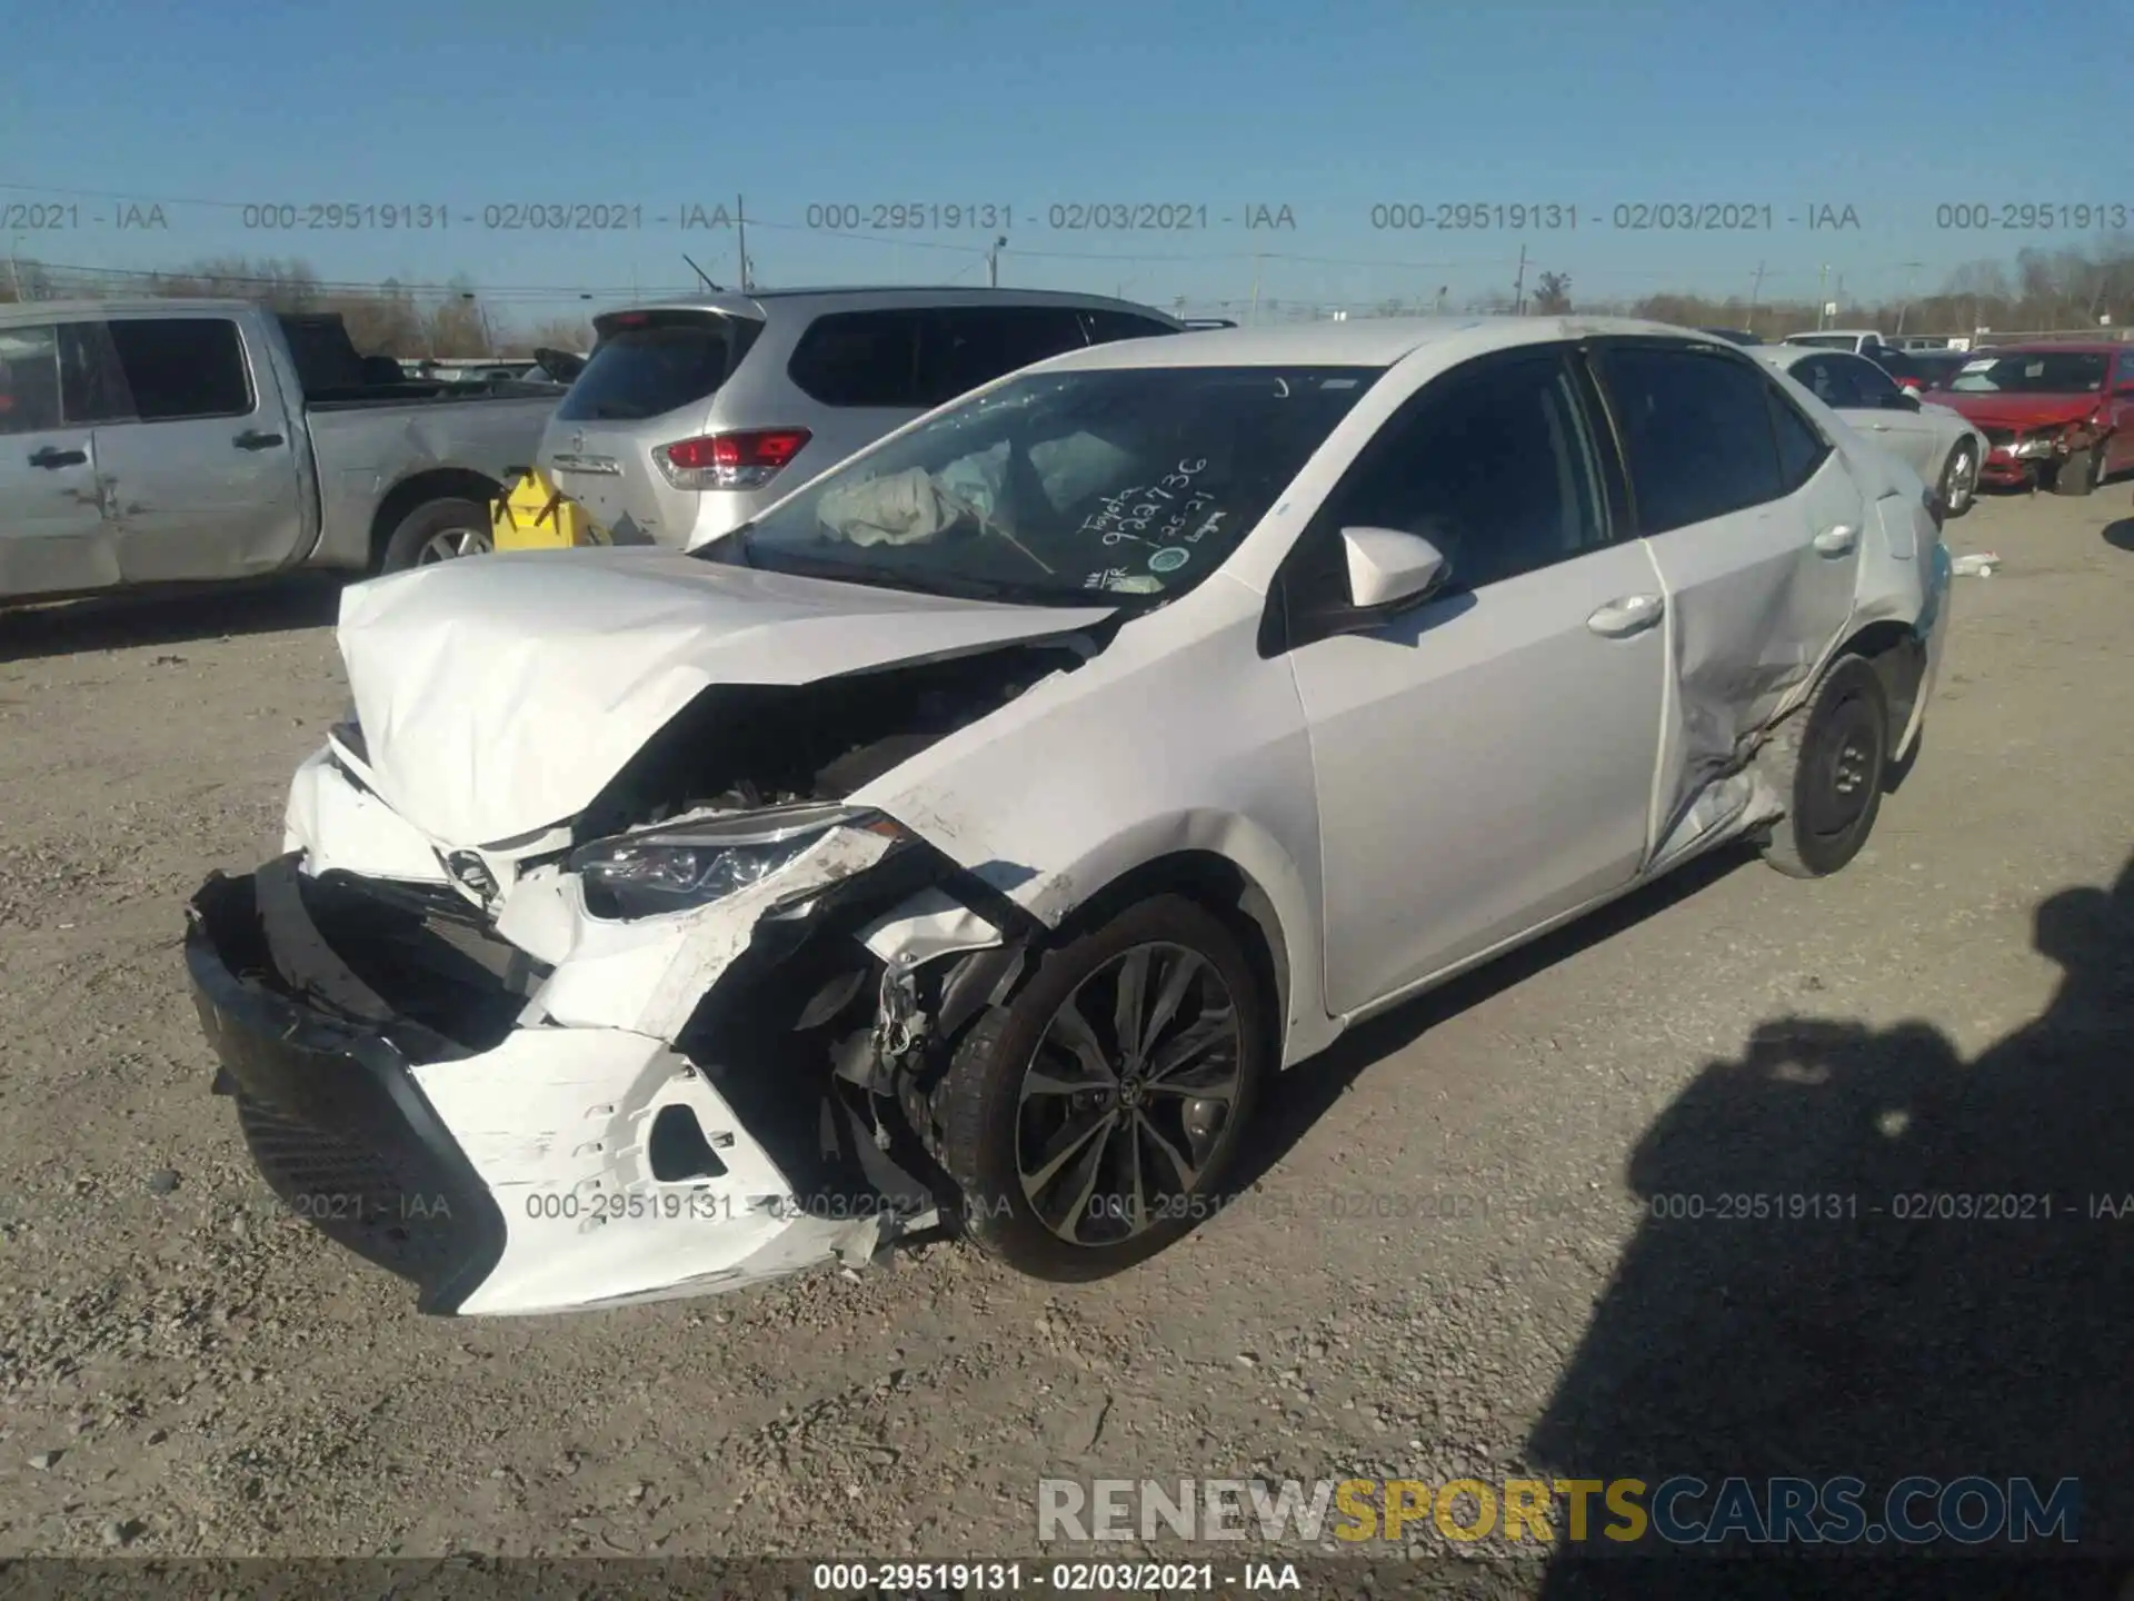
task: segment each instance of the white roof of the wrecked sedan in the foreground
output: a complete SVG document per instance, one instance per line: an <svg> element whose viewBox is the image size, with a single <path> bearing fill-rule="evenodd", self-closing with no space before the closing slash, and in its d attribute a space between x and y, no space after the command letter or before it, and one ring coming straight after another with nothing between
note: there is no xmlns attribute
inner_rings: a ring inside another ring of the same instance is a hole
<svg viewBox="0 0 2134 1601"><path fill-rule="evenodd" d="M1434 344L1477 350L1524 344L1645 335L1741 350L1697 329L1628 316L1385 316L1347 322L1287 322L1272 329L1195 329L1169 337L1118 339L1071 350L1050 371L1082 367L1391 367Z"/></svg>

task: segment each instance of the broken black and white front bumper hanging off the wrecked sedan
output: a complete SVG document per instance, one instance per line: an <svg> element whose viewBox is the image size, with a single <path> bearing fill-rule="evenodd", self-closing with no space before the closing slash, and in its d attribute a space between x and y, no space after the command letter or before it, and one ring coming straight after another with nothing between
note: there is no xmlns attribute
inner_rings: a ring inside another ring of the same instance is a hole
<svg viewBox="0 0 2134 1601"><path fill-rule="evenodd" d="M356 971L316 916L337 890L297 862L218 875L192 901L186 965L216 1089L269 1187L412 1281L425 1313L691 1296L886 1238L886 1208L800 1204L670 1044L523 1023L523 995L478 963L380 965L376 950L442 937L418 907L380 914Z"/></svg>

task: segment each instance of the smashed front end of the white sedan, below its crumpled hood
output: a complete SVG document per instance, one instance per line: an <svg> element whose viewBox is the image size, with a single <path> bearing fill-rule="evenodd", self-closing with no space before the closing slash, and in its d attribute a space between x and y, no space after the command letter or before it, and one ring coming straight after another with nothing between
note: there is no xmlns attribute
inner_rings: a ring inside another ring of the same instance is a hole
<svg viewBox="0 0 2134 1601"><path fill-rule="evenodd" d="M845 796L1090 649L717 685L506 847L420 837L337 730L288 852L190 912L269 1185L431 1313L704 1294L943 1225L933 1084L1041 924Z"/></svg>

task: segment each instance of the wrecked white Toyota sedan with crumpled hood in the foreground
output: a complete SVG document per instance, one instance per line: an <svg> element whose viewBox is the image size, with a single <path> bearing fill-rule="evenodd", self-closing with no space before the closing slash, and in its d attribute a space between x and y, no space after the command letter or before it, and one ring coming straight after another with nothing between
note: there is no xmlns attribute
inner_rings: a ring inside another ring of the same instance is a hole
<svg viewBox="0 0 2134 1601"><path fill-rule="evenodd" d="M286 854L192 903L216 1082L429 1311L1108 1274L1361 1018L1729 839L1842 869L1946 583L1912 470L1684 329L1073 352L698 553L350 589Z"/></svg>

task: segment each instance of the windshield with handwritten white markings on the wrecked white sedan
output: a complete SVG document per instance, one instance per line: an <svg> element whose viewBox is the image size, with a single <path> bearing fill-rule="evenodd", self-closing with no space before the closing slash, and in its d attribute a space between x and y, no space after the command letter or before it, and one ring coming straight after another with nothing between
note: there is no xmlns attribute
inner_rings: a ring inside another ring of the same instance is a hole
<svg viewBox="0 0 2134 1601"><path fill-rule="evenodd" d="M706 555L1037 604L1176 598L1223 566L1379 371L1031 374L817 478L738 549Z"/></svg>

